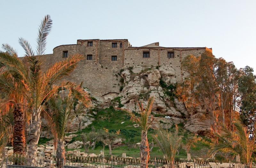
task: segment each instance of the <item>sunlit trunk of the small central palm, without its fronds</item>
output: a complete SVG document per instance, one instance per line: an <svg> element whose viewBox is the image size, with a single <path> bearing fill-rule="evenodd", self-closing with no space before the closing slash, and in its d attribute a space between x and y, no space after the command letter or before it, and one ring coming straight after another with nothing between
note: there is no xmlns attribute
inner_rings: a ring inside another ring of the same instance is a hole
<svg viewBox="0 0 256 168"><path fill-rule="evenodd" d="M145 131L141 132L141 144L140 144L140 167L148 168L149 160L149 146L148 146L148 134Z"/></svg>

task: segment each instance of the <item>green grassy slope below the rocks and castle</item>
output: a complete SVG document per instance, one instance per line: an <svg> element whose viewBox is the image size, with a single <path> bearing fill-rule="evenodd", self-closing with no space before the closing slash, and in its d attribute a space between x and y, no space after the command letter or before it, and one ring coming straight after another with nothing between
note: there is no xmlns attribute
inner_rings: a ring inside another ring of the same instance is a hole
<svg viewBox="0 0 256 168"><path fill-rule="evenodd" d="M136 123L132 123L132 121L130 121L130 117L126 114L126 112L119 111L119 110L116 111L113 108L106 108L104 110L95 110L94 109L94 111L97 111L97 114L93 115L95 120L87 128L76 132L76 134L78 134L78 136L73 138L72 141L76 141L76 140L82 141L81 134L90 132L92 129L92 126L94 126L94 128L96 130L103 129L105 127L107 129L109 129L109 131L113 131L113 132L116 132L117 130L120 129L120 131L121 131L120 138L122 138L123 140L125 139L124 143L126 143L126 144L136 144L136 143L140 142L140 128L135 128L133 126L133 124L136 124ZM121 124L122 122L124 122L124 123ZM183 129L182 124L180 124L180 130L184 134L183 143L186 141L187 137L194 136L192 133L185 131ZM152 141L152 134L154 134L154 130L150 129L148 132L148 141L149 142ZM39 144L43 144L48 140L49 139L42 138L39 140ZM129 146L131 146L131 145L129 145ZM101 143L97 143L95 150L93 150L93 151L90 150L89 153L98 154L98 153L100 153L100 150L102 150L102 149L103 148L102 148ZM204 155L204 154L206 154L208 149L209 149L209 145L200 141L200 142L196 143L195 148L191 148L191 153ZM67 149L67 150L71 150L71 149ZM84 149L81 148L81 151L84 151ZM108 153L107 146L105 148L105 153L106 154ZM122 153L126 153L126 156L139 156L140 150L139 150L138 145L135 146L135 148L131 148L131 147L128 147L127 145L123 145L121 147L114 148L112 153L113 153L113 155L122 155ZM159 157L159 158L163 157L162 152L159 150L159 148L156 145L153 148L153 151L151 152L151 157ZM179 158L187 157L186 151L183 148L179 149L178 157Z"/></svg>

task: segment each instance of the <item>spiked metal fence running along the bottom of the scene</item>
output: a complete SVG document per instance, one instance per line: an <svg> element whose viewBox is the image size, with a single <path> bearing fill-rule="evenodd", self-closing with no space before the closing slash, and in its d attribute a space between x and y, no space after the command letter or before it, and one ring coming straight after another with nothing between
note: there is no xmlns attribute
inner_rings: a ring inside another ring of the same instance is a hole
<svg viewBox="0 0 256 168"><path fill-rule="evenodd" d="M36 157L33 165L28 165L28 159L22 155L7 156L3 167L7 168L38 168L49 167L56 168L56 157ZM140 168L140 159L132 157L100 156L100 157L82 157L66 156L63 168ZM170 162L166 159L151 159L148 162L149 168L170 168ZM256 168L255 164L246 165L241 163L215 163L207 161L175 161L174 168Z"/></svg>

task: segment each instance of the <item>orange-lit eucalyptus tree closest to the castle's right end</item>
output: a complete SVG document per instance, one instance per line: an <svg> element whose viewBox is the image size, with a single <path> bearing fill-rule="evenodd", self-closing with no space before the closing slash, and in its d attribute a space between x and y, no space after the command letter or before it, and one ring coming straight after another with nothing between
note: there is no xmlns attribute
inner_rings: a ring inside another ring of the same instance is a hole
<svg viewBox="0 0 256 168"><path fill-rule="evenodd" d="M184 83L177 87L177 95L180 100L186 102L187 107L206 107L206 113L209 113L212 119L212 131L216 133L219 130L220 109L219 88L213 74L215 62L211 52L203 53L200 57L186 56L181 64L188 76Z"/></svg>

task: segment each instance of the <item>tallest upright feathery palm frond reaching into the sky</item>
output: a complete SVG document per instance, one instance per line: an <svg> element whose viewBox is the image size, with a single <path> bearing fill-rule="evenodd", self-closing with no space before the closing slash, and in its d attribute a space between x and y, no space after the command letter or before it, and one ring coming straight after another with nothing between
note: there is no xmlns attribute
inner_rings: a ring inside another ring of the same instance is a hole
<svg viewBox="0 0 256 168"><path fill-rule="evenodd" d="M37 55L43 55L44 51L46 49L46 37L49 35L50 31L52 29L52 19L50 15L46 15L44 19L42 20L38 34L37 34L37 48L36 48L36 54Z"/></svg>

